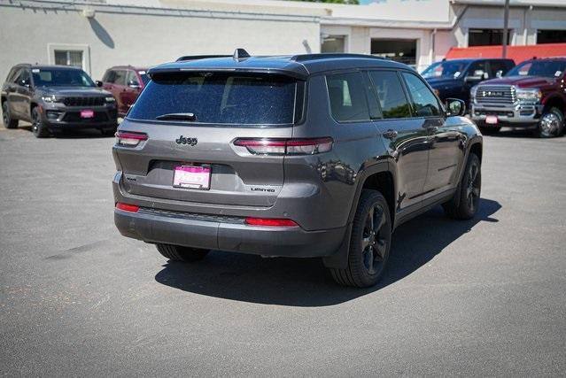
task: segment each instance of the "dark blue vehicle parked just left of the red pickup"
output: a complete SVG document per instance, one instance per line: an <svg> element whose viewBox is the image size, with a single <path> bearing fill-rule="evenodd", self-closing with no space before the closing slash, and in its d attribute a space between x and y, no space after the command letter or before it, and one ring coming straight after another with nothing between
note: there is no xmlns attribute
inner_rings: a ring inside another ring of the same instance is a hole
<svg viewBox="0 0 566 378"><path fill-rule="evenodd" d="M442 101L460 98L469 104L469 89L481 81L500 77L515 66L511 59L454 59L430 65L423 78Z"/></svg>

